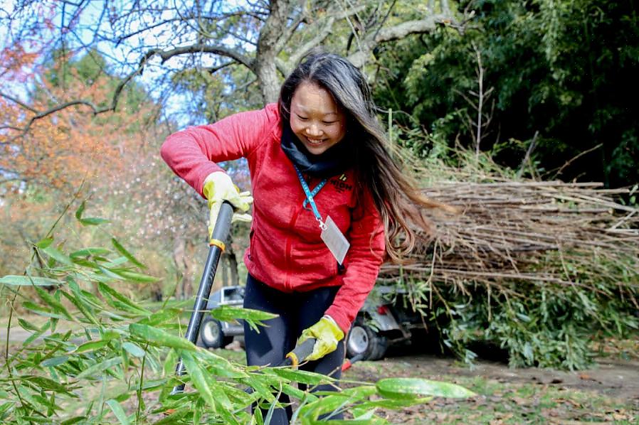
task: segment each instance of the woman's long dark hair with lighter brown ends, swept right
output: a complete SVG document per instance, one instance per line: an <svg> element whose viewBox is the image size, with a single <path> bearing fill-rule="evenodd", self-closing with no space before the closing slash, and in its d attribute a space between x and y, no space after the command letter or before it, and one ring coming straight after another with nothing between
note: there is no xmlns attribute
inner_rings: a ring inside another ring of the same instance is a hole
<svg viewBox="0 0 639 425"><path fill-rule="evenodd" d="M440 204L423 196L391 158L369 85L352 63L339 55L317 51L302 58L280 90L282 126L289 125L291 100L302 82L324 87L347 114L347 139L354 143L357 181L371 191L384 222L386 254L394 262L401 262L415 247L419 231L431 235L424 212Z"/></svg>

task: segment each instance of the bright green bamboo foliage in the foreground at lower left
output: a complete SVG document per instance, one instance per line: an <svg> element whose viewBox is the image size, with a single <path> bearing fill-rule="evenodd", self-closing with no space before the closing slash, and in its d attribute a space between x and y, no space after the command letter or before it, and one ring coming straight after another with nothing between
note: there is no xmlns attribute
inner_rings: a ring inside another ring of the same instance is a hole
<svg viewBox="0 0 639 425"><path fill-rule="evenodd" d="M85 220L84 206L78 208L77 220ZM142 264L133 254L113 242L115 250L89 247L68 252L48 236L31 246L33 258L41 262L31 262L24 276L1 278L3 293L11 296L9 328L16 303L32 315L48 318L42 325L18 318L31 336L17 346L9 345L7 335L8 356L0 375L3 423L268 423L268 416L263 421L259 413L252 418L248 407L257 403L272 411L278 405L274 394L281 391L299 401L295 418L304 424L347 409L354 414L349 422L386 424L374 415L375 409L426 402L420 397L429 394L472 395L453 384L422 380L411 380L415 391L406 391L405 382L393 379L379 387L360 385L311 394L295 388L295 382L313 386L334 380L283 367L231 362L179 335L181 308L169 308L166 302L158 309L148 308L112 286L122 280L145 284L152 279L137 271ZM45 284L48 291L41 289ZM36 296L27 295L30 291ZM212 313L241 317L253 325L270 317L228 308ZM174 375L178 357L187 370L181 377ZM171 394L181 383L192 390ZM245 391L247 387L253 392ZM168 413L162 416L162 412Z"/></svg>

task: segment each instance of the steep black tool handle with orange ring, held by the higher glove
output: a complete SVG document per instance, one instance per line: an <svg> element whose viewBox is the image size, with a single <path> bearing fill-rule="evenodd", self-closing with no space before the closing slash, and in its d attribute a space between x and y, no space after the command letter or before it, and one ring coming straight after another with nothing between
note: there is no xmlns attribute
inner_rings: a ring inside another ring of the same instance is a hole
<svg viewBox="0 0 639 425"><path fill-rule="evenodd" d="M233 218L233 205L224 201L221 205L218 218L213 227L213 234L211 239L226 242L228 239L228 233L231 231L231 219ZM196 343L198 335L200 333L200 325L204 313L206 312L206 304L208 303L208 297L211 296L211 287L213 286L213 278L215 278L216 271L218 269L218 262L222 254L221 247L217 245L211 245L208 249L208 257L206 258L206 264L204 264L204 273L200 280L200 286L198 293L195 297L195 303L193 305L193 312L191 313L191 319L189 320L189 326L186 328L186 334L184 338ZM184 364L182 359L178 359L175 367L175 374L177 376L184 375ZM179 384L173 388L171 394L176 394L184 391L184 384Z"/></svg>

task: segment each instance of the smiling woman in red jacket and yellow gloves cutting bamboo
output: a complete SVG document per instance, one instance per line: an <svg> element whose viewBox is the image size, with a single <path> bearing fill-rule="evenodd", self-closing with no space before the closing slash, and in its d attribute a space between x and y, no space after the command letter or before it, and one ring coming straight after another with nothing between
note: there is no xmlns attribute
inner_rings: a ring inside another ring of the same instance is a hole
<svg viewBox="0 0 639 425"><path fill-rule="evenodd" d="M254 203L244 306L278 314L260 333L245 326L248 365L277 364L316 338L302 367L339 379L344 334L384 255L397 261L410 252L415 225L428 233L421 212L434 204L392 161L374 110L357 68L312 53L287 77L278 104L180 131L162 146L164 161L208 199L209 233L223 200L235 220L250 220L241 212L253 198L216 165L248 159ZM272 423L287 424L291 414L277 409Z"/></svg>

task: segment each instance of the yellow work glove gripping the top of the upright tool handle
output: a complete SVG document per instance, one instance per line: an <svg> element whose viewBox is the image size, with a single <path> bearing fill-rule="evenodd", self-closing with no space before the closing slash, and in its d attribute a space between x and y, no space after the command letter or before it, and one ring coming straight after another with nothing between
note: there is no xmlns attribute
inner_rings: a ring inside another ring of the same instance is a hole
<svg viewBox="0 0 639 425"><path fill-rule="evenodd" d="M223 171L216 171L209 174L204 179L204 188L202 188L204 197L208 200L208 237L211 238L213 234L213 226L215 226L218 220L218 214L222 203L225 200L233 205L235 212L233 212L233 218L231 222L243 221L250 222L250 214L241 214L239 212L247 212L250 208L250 203L253 202L253 196L250 192L240 192L238 187L233 184L228 174Z"/></svg>

